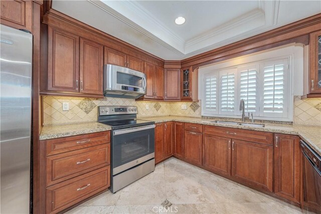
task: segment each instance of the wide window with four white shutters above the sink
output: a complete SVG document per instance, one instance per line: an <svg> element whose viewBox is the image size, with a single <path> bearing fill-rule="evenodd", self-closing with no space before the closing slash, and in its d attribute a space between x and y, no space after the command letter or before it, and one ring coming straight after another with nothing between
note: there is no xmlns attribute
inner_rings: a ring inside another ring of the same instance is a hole
<svg viewBox="0 0 321 214"><path fill-rule="evenodd" d="M290 120L288 112L289 59L263 61L204 74L203 115Z"/></svg>

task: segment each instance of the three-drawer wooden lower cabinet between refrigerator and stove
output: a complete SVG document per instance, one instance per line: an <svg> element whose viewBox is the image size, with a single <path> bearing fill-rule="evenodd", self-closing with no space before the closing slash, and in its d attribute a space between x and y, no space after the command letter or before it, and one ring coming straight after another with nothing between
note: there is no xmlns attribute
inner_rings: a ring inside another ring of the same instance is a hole
<svg viewBox="0 0 321 214"><path fill-rule="evenodd" d="M58 213L110 186L110 131L40 141L43 213Z"/></svg>

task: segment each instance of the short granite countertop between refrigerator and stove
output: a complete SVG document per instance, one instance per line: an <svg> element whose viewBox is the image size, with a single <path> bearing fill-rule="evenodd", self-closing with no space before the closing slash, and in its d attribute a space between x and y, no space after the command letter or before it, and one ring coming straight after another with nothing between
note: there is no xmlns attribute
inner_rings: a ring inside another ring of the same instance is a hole
<svg viewBox="0 0 321 214"><path fill-rule="evenodd" d="M111 126L98 122L44 126L40 132L39 139L48 140L108 130L111 130Z"/></svg>

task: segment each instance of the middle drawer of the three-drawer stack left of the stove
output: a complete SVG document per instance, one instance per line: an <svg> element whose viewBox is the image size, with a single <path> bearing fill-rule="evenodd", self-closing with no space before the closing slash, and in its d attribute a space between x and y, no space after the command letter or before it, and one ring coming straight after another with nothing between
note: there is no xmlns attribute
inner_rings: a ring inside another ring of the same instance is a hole
<svg viewBox="0 0 321 214"><path fill-rule="evenodd" d="M110 164L110 143L47 157L47 186Z"/></svg>

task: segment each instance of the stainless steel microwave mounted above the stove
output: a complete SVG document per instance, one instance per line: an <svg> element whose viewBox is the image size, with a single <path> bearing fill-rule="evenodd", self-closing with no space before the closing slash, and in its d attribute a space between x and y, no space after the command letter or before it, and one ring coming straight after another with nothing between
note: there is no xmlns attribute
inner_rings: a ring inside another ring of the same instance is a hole
<svg viewBox="0 0 321 214"><path fill-rule="evenodd" d="M144 73L121 66L104 65L104 96L136 99L144 94Z"/></svg>

